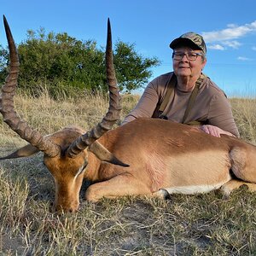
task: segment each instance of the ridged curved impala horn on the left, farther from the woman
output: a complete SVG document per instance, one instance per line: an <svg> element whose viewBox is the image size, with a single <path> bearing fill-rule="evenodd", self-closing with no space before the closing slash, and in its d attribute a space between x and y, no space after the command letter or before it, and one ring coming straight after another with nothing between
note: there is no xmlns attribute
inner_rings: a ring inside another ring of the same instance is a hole
<svg viewBox="0 0 256 256"><path fill-rule="evenodd" d="M0 96L0 112L3 114L3 121L15 131L22 139L26 140L32 146L38 148L49 157L55 157L61 154L61 148L48 138L43 137L38 131L33 130L26 121L20 119L15 112L14 96L18 84L18 75L20 70L20 62L15 46L15 40L9 29L9 24L3 15L3 24L6 37L9 44L9 74L5 79Z"/></svg>

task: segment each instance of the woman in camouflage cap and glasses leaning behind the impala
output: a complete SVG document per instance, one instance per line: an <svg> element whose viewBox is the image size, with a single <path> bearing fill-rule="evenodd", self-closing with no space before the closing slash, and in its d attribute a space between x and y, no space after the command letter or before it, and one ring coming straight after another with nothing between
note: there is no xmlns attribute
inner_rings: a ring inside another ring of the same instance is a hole
<svg viewBox="0 0 256 256"><path fill-rule="evenodd" d="M122 125L138 117L164 118L199 125L212 136L239 137L230 102L223 90L202 73L207 47L201 35L187 32L170 44L173 72L151 81Z"/></svg>

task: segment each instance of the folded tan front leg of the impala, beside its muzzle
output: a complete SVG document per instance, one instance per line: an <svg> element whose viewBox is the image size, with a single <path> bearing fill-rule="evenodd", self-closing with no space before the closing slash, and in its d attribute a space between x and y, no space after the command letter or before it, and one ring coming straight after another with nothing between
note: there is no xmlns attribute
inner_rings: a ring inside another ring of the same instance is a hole
<svg viewBox="0 0 256 256"><path fill-rule="evenodd" d="M85 192L87 201L99 201L102 197L116 198L124 195L150 195L149 187L130 174L119 174L101 183L94 183Z"/></svg>

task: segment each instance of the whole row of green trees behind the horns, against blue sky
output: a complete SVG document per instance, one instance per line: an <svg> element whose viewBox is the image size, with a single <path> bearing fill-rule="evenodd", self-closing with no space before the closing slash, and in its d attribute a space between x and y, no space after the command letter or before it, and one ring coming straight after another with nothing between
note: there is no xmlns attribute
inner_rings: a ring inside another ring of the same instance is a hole
<svg viewBox="0 0 256 256"><path fill-rule="evenodd" d="M63 33L46 33L44 28L27 31L26 40L17 45L20 58L19 88L37 95L43 87L51 96L70 95L79 90L108 91L105 49L94 40L78 40ZM160 61L139 55L135 44L118 40L113 45L113 61L119 89L139 89L152 75L150 68ZM8 73L9 49L0 45L0 79Z"/></svg>

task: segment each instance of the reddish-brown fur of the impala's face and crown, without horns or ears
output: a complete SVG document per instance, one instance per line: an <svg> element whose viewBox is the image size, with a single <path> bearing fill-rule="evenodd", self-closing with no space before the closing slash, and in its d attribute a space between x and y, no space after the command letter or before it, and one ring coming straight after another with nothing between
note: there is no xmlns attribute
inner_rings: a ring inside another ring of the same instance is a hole
<svg viewBox="0 0 256 256"><path fill-rule="evenodd" d="M84 131L75 126L67 127L62 131L50 135L52 141L61 147L61 152L65 153L66 148ZM82 186L83 175L73 178L84 162L87 160L87 152L84 151L75 159L67 158L66 154L51 158L44 155L44 164L49 169L55 180L55 203L56 210L71 211L79 207L79 190Z"/></svg>

